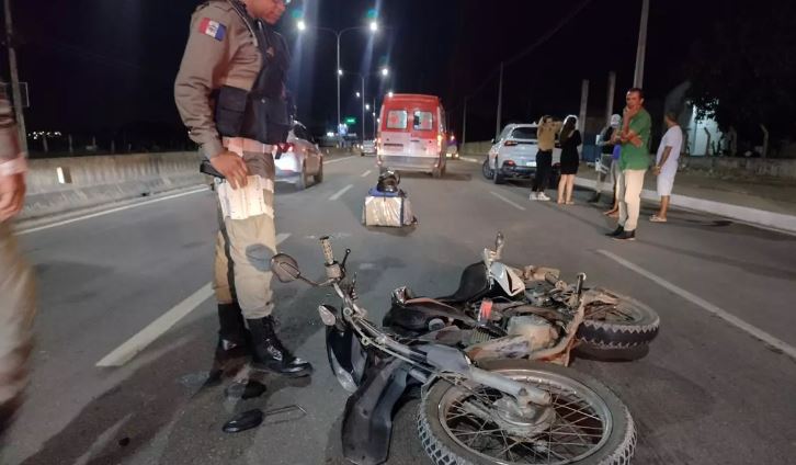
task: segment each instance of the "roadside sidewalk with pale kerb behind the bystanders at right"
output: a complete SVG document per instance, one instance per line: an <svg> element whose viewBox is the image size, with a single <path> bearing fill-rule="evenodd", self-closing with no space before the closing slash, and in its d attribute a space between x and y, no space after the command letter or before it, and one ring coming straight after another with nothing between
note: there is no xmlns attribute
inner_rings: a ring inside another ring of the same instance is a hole
<svg viewBox="0 0 796 465"><path fill-rule="evenodd" d="M582 163L576 184L594 189L596 171ZM656 179L647 171L641 197L658 203ZM604 185L604 191L612 186ZM783 231L796 232L796 184L781 180L727 180L704 172L679 172L674 180L673 207L725 216Z"/></svg>

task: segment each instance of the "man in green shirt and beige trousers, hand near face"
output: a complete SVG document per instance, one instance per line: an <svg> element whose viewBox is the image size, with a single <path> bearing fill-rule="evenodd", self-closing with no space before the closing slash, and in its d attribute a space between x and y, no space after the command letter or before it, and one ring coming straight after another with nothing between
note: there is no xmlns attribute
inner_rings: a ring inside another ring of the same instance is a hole
<svg viewBox="0 0 796 465"><path fill-rule="evenodd" d="M617 138L622 144L619 155L618 199L619 224L607 236L618 240L635 240L638 214L641 208L644 174L649 168L649 136L651 118L644 109L644 91L633 88L625 97L627 106L622 117L622 131Z"/></svg>

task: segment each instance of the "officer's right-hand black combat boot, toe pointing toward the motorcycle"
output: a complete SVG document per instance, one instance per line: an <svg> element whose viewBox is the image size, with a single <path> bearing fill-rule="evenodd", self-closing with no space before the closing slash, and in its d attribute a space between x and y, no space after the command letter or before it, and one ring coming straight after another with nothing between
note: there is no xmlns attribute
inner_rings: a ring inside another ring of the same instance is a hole
<svg viewBox="0 0 796 465"><path fill-rule="evenodd" d="M276 337L273 317L248 319L254 345L251 365L289 377L309 376L312 365L294 356Z"/></svg>

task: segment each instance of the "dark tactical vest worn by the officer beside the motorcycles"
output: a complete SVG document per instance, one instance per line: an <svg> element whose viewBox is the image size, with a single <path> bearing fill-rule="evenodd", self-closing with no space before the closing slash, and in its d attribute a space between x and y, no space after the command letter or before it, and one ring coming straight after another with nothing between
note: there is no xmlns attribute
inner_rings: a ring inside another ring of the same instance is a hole
<svg viewBox="0 0 796 465"><path fill-rule="evenodd" d="M285 39L260 20L254 20L237 0L240 19L257 38L262 69L251 91L225 86L218 91L215 122L224 137L246 137L263 144L282 144L291 129L285 80L291 55ZM272 50L269 54L269 50Z"/></svg>

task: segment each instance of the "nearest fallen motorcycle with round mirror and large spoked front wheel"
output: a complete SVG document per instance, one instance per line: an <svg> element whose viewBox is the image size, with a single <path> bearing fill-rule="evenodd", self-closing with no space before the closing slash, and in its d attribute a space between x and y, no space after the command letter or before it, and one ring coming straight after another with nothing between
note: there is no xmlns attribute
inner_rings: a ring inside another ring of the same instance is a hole
<svg viewBox="0 0 796 465"><path fill-rule="evenodd" d="M418 434L435 464L627 464L633 418L607 387L571 368L528 360L471 361L460 350L378 328L359 305L356 276L321 238L327 279L303 276L289 256L273 257L281 282L332 287L340 308L320 305L332 372L350 393L342 423L344 456L387 460L393 415L419 393Z"/></svg>

